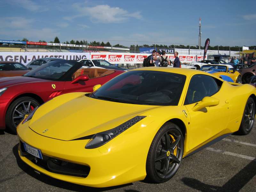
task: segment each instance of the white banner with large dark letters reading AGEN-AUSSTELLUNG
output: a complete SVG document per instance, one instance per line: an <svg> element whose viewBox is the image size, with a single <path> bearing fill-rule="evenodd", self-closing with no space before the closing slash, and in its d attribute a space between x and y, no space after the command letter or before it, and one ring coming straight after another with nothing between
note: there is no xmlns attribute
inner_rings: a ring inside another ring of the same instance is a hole
<svg viewBox="0 0 256 192"><path fill-rule="evenodd" d="M91 58L90 53L86 52L0 52L0 61L17 61L25 65L30 61L45 57L55 57L66 60Z"/></svg>

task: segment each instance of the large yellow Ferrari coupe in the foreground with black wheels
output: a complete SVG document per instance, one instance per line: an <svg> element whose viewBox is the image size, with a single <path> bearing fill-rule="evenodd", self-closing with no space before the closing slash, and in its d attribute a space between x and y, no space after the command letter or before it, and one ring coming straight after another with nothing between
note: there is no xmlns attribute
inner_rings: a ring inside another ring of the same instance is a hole
<svg viewBox="0 0 256 192"><path fill-rule="evenodd" d="M125 72L92 93L68 93L17 128L20 158L50 177L108 187L161 183L183 157L233 132L248 134L256 89L186 68Z"/></svg>

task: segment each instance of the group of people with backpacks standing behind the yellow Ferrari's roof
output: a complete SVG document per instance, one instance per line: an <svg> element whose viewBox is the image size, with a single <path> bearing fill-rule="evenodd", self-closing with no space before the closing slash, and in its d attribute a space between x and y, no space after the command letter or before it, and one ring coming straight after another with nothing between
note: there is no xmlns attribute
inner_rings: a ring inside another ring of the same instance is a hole
<svg viewBox="0 0 256 192"><path fill-rule="evenodd" d="M180 68L180 59L178 57L179 53L174 52L174 61L172 62L169 57L166 55L166 52L163 50L162 52L160 51L153 51L151 55L149 55L146 59L145 62L143 63L144 67L167 67L168 65L173 65L173 67Z"/></svg>

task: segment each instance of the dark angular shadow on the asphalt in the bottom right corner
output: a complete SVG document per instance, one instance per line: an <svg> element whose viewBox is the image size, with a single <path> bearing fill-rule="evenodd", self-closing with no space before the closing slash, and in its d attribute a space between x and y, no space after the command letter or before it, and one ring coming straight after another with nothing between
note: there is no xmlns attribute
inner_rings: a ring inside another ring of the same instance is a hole
<svg viewBox="0 0 256 192"><path fill-rule="evenodd" d="M208 185L192 178L182 178L183 183L191 188L203 191L240 191L256 175L256 159L247 164L240 172L228 180L222 187Z"/></svg>

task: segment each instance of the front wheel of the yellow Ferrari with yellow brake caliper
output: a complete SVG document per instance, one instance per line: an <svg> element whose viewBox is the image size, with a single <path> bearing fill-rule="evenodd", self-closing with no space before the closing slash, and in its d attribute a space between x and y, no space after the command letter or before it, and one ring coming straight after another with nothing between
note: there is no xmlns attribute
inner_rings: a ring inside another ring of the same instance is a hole
<svg viewBox="0 0 256 192"><path fill-rule="evenodd" d="M156 133L148 150L147 180L163 183L171 179L179 169L183 150L184 138L180 128L176 124L165 123Z"/></svg>

